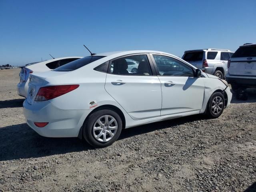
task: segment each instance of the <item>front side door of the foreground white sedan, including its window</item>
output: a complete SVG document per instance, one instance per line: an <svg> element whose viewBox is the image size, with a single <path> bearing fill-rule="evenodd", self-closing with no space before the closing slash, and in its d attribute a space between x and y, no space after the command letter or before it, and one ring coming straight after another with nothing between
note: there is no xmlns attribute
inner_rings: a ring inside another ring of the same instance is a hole
<svg viewBox="0 0 256 192"><path fill-rule="evenodd" d="M194 77L191 66L168 55L150 54L161 82L161 116L199 113L204 100L203 78Z"/></svg>

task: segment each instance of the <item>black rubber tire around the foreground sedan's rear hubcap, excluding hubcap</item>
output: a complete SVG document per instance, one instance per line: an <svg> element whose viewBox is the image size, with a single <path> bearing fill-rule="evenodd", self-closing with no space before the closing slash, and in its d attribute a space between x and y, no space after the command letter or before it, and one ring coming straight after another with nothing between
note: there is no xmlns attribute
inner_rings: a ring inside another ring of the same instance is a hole
<svg viewBox="0 0 256 192"><path fill-rule="evenodd" d="M118 124L118 130L117 130L116 134L114 135L114 137L110 141L99 142L94 138L93 133L92 133L92 128L93 128L96 120L104 115L110 115L116 119L116 122ZM82 129L84 139L90 145L92 145L94 147L99 147L99 148L110 146L111 144L113 144L119 138L121 131L122 131L122 120L121 120L120 116L116 112L114 112L112 110L107 110L107 109L99 110L99 111L92 113L89 116L89 118L86 120L86 122L84 123L83 129Z"/></svg>

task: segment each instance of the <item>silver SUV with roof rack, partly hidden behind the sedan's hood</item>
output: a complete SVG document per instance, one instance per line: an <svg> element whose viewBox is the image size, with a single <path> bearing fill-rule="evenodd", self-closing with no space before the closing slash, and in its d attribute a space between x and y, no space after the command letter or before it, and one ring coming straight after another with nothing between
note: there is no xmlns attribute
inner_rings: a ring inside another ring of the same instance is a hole
<svg viewBox="0 0 256 192"><path fill-rule="evenodd" d="M228 60L233 52L227 49L200 49L185 51L182 59L203 72L224 79L228 72Z"/></svg>

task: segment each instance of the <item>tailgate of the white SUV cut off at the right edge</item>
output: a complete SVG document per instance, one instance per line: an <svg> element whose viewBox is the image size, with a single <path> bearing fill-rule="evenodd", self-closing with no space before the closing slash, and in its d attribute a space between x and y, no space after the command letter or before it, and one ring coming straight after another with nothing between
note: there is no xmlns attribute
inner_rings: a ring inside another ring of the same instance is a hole
<svg viewBox="0 0 256 192"><path fill-rule="evenodd" d="M256 77L256 45L238 48L230 59L228 72L232 76Z"/></svg>

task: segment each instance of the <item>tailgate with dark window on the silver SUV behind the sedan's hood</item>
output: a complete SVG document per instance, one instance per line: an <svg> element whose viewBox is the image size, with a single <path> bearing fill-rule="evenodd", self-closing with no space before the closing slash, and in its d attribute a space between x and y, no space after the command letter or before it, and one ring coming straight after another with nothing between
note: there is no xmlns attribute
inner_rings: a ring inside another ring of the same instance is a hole
<svg viewBox="0 0 256 192"><path fill-rule="evenodd" d="M189 62L196 68L202 68L204 60L204 51L185 52L182 59L186 62Z"/></svg>

